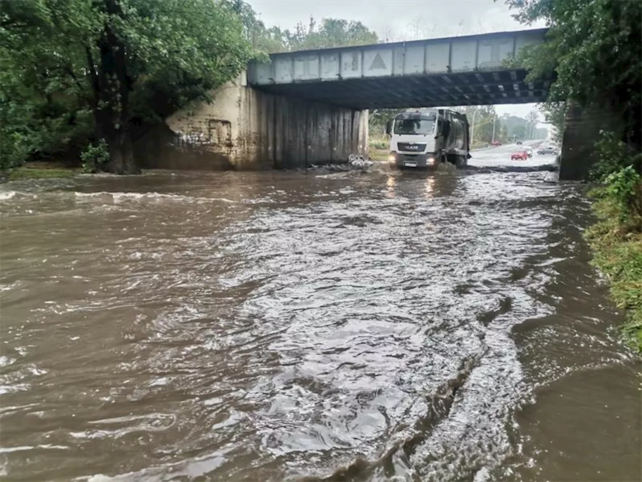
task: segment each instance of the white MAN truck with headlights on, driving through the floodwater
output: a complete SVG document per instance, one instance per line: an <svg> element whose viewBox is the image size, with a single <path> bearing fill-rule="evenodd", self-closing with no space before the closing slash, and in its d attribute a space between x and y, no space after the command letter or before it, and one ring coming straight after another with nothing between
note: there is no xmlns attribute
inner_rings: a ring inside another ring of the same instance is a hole
<svg viewBox="0 0 642 482"><path fill-rule="evenodd" d="M400 112L386 123L391 165L430 167L449 162L465 166L470 134L465 114L450 109Z"/></svg>

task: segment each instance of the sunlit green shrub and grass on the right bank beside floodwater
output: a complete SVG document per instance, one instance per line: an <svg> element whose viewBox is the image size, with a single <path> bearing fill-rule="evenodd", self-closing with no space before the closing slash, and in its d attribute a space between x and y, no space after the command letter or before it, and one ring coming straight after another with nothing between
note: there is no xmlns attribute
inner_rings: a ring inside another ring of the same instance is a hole
<svg viewBox="0 0 642 482"><path fill-rule="evenodd" d="M642 351L642 154L612 132L595 143L600 160L591 175L598 222L586 231L593 263L611 281L611 296L625 310L623 332Z"/></svg>

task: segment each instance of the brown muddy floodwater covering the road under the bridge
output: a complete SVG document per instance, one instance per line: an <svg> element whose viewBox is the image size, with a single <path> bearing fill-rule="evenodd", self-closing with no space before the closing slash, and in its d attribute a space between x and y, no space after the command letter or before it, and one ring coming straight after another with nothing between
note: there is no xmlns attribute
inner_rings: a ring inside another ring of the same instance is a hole
<svg viewBox="0 0 642 482"><path fill-rule="evenodd" d="M0 478L640 480L589 206L543 179L0 186Z"/></svg>

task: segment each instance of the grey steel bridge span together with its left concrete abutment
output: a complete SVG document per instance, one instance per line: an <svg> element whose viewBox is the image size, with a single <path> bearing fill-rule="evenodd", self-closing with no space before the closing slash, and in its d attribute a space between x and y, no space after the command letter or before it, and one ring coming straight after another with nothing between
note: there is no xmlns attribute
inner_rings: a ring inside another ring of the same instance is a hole
<svg viewBox="0 0 642 482"><path fill-rule="evenodd" d="M216 91L214 103L168 118L174 138L148 143L147 166L175 167L176 151L202 168L345 163L367 155L368 109L541 102L554 76L527 81L514 58L546 31L270 55Z"/></svg>

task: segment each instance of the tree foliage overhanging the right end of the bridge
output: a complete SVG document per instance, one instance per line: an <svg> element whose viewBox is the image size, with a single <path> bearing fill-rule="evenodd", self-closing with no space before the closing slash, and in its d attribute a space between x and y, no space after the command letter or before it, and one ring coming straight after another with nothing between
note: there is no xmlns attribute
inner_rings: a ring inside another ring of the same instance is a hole
<svg viewBox="0 0 642 482"><path fill-rule="evenodd" d="M530 78L557 73L550 102L605 105L621 114L625 140L642 145L642 2L505 0L519 21L544 20L546 42L524 49Z"/></svg>

